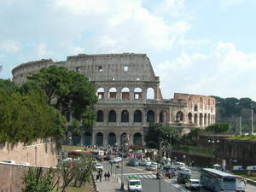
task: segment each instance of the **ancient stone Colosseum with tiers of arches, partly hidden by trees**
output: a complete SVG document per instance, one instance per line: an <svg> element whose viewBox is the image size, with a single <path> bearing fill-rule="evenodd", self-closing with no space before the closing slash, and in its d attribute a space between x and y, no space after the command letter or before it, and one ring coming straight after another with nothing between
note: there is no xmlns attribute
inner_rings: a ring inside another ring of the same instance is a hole
<svg viewBox="0 0 256 192"><path fill-rule="evenodd" d="M96 86L96 122L79 138L84 145L119 145L124 134L130 145L144 145L149 122L170 125L180 134L215 122L215 99L210 96L175 93L164 99L160 78L146 54L80 54L67 56L67 61L31 61L12 70L13 81L21 85L26 76L51 65L82 73Z"/></svg>

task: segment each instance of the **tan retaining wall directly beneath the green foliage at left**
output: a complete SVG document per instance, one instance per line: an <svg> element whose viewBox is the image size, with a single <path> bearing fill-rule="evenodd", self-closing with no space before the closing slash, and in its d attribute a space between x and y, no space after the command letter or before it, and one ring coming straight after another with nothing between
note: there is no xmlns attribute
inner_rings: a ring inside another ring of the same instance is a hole
<svg viewBox="0 0 256 192"><path fill-rule="evenodd" d="M22 143L17 143L13 148L5 143L0 145L0 161L2 160L28 162L32 166L56 166L57 152L52 142L34 143L25 147Z"/></svg>

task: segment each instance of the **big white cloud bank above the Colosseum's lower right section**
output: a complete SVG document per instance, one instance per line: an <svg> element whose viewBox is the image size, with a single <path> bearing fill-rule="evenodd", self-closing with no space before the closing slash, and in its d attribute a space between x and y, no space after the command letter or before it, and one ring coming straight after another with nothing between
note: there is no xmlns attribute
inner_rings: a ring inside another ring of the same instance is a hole
<svg viewBox="0 0 256 192"><path fill-rule="evenodd" d="M209 55L183 52L174 60L161 62L155 71L160 76L166 98L172 97L174 90L256 99L256 90L253 89L256 53L246 54L231 43L219 42Z"/></svg>

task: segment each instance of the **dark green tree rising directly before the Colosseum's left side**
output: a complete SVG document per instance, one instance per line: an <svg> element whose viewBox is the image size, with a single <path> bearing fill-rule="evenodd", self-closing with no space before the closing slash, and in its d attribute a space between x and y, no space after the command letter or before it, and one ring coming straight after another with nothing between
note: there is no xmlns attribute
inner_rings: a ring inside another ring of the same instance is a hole
<svg viewBox="0 0 256 192"><path fill-rule="evenodd" d="M84 128L93 125L96 114L91 107L97 102L96 89L84 75L65 67L50 66L28 79L38 82L49 104L60 110L62 115L72 113L73 118L82 119Z"/></svg>

